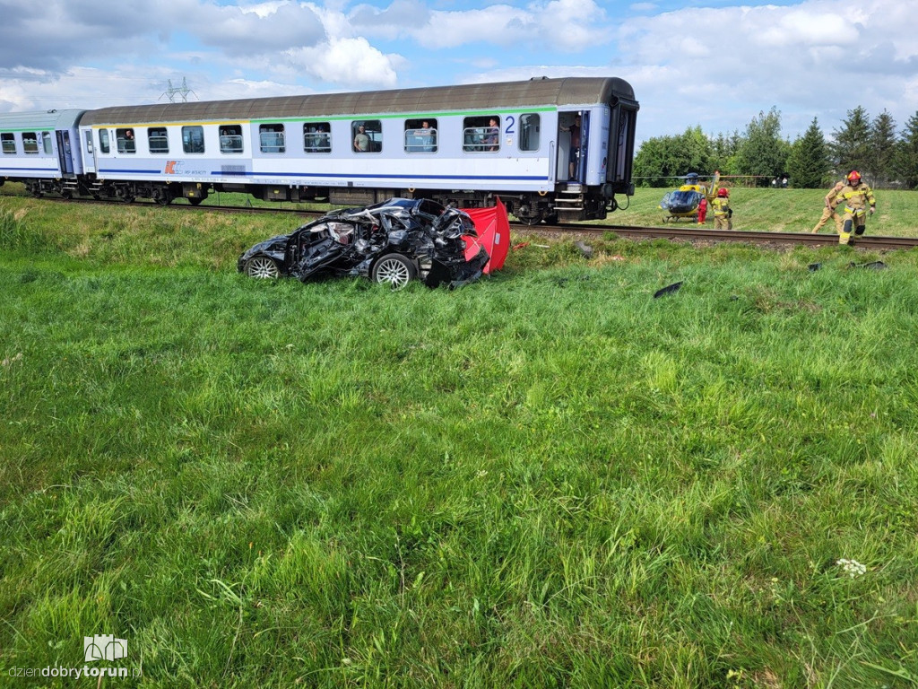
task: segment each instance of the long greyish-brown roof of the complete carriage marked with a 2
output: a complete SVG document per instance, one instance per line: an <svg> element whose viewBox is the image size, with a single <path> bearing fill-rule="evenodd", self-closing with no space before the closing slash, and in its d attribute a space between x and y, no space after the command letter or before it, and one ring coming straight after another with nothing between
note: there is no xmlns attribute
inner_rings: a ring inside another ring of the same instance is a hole
<svg viewBox="0 0 918 689"><path fill-rule="evenodd" d="M103 107L87 111L81 125L563 107L614 104L619 99L633 102L634 91L617 77L539 77L524 82Z"/></svg>

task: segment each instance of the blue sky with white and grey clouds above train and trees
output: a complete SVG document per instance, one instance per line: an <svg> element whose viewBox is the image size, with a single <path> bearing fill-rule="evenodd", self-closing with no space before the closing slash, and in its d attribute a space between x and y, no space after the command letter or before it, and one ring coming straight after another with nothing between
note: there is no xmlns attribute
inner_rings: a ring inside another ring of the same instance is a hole
<svg viewBox="0 0 918 689"><path fill-rule="evenodd" d="M618 76L638 140L918 113L915 0L0 0L0 113ZM184 92L184 93L183 93Z"/></svg>

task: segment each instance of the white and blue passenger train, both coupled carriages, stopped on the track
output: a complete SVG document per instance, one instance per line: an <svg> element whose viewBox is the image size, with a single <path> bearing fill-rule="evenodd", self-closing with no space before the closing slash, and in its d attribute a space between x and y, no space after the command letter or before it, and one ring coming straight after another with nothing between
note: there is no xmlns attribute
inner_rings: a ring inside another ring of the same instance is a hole
<svg viewBox="0 0 918 689"><path fill-rule="evenodd" d="M36 196L162 204L500 196L530 223L599 219L633 194L638 107L621 79L571 77L0 115L0 178Z"/></svg>

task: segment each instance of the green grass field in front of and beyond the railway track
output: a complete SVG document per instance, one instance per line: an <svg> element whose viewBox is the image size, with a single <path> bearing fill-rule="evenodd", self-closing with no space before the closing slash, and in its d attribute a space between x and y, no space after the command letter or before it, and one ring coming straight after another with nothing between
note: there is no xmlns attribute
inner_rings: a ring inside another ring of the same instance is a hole
<svg viewBox="0 0 918 689"><path fill-rule="evenodd" d="M236 273L290 222L0 199L0 686L918 686L918 254Z"/></svg>

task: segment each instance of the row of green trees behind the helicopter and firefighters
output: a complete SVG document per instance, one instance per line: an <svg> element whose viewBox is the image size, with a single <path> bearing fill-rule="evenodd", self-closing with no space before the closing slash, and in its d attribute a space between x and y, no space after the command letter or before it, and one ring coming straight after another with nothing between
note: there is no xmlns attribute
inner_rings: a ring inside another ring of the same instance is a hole
<svg viewBox="0 0 918 689"><path fill-rule="evenodd" d="M767 186L788 175L790 186L821 188L856 169L871 186L918 188L918 112L897 134L886 110L870 119L864 107L847 111L839 129L826 141L819 121L794 141L781 137L776 107L760 112L741 134L711 137L700 126L677 136L644 141L634 157L639 186L673 186L674 177L720 170L722 175L748 175Z"/></svg>

